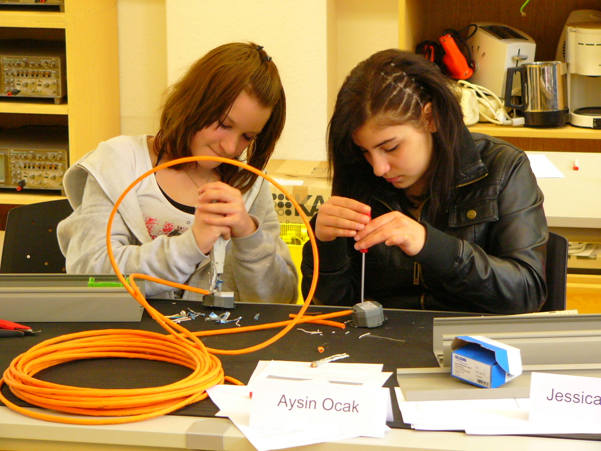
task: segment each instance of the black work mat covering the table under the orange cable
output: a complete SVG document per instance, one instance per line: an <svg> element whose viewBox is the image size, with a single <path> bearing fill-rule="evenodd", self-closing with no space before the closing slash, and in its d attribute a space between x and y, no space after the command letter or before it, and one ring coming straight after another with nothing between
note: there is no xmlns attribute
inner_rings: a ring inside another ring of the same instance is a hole
<svg viewBox="0 0 601 451"><path fill-rule="evenodd" d="M150 301L154 308L161 313L170 315L182 310L192 310L209 314L223 313L223 310L206 308L202 304L193 301ZM270 322L285 321L288 314L297 313L300 305L281 304L237 304L231 310L230 319L242 316L239 321L241 326L265 324ZM337 307L311 306L311 313L329 313L335 310L344 310ZM254 319L255 315L258 319ZM317 324L300 324L289 331L284 337L267 346L267 348L249 354L240 355L218 355L224 368L225 375L232 376L239 381L248 382L252 372L259 360L296 360L313 361L333 354L347 352L350 357L342 362L347 363L383 363L384 371L392 372L393 375L386 381L386 387L395 387L396 369L398 367L433 367L438 366L432 352L432 319L435 316L456 316L432 311L412 310L385 310L386 321L379 327L365 329L347 326L340 329ZM181 324L191 331L213 330L223 328L237 328L233 323L215 324L205 321L199 316L194 321L186 321ZM333 321L344 322L350 316L335 318ZM158 333L165 333L150 316L144 312L142 321L139 323L29 323L26 324L34 330L41 330L37 336L25 336L0 339L0 368L4 371L11 360L17 355L27 351L37 343L44 340L87 330L100 329L143 329ZM297 330L303 328L307 331L322 331L322 334L307 334ZM204 337L203 343L209 348L215 349L242 349L257 345L269 339L281 328L253 331L241 334L227 334L222 336ZM348 333L347 333L348 332ZM388 339L374 338L363 334L370 333L388 337ZM318 347L323 346L325 351L320 353ZM90 388L142 388L157 387L185 378L190 373L186 367L169 364L165 362L128 359L128 358L100 358L90 360L78 360L50 367L38 373L37 378L56 384L71 385L76 387ZM388 425L392 428L410 428L403 423L400 411L392 393L392 408L394 411L394 422ZM28 403L14 396L10 389L4 385L2 394L8 400L22 407L31 407ZM188 405L172 415L185 416L215 416L218 408L210 399Z"/></svg>

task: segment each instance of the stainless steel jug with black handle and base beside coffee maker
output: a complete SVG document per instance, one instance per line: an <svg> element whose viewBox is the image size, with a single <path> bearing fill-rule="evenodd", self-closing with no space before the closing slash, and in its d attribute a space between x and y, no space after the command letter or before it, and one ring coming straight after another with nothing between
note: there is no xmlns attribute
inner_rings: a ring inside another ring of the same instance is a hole
<svg viewBox="0 0 601 451"><path fill-rule="evenodd" d="M520 74L522 103L511 102L514 74ZM561 127L569 120L566 63L540 61L507 69L505 106L523 111L526 127Z"/></svg>

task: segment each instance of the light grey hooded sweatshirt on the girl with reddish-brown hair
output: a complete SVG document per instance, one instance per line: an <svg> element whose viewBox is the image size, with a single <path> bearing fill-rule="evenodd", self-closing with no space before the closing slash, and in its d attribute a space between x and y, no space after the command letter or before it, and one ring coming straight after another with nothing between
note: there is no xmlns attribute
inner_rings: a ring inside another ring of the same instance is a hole
<svg viewBox="0 0 601 451"><path fill-rule="evenodd" d="M148 135L100 143L67 170L63 185L73 214L57 234L69 274L114 274L106 247L109 215L125 189L150 169ZM222 290L242 302L295 302L296 268L273 209L269 183L258 177L243 196L257 230L227 245ZM198 249L192 229L177 236L148 234L135 187L124 197L111 228L112 250L123 274L140 272L209 289L209 256ZM172 287L148 282L147 297L172 298ZM199 298L184 292L182 298Z"/></svg>

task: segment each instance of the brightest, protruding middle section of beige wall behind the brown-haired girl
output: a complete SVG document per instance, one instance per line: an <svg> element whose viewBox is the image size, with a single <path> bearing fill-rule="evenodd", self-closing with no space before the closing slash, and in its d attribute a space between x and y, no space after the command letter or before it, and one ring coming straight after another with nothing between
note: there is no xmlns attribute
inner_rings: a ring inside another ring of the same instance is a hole
<svg viewBox="0 0 601 451"><path fill-rule="evenodd" d="M278 66L287 97L277 155L325 157L326 1L166 0L166 11L169 83L220 44L254 41Z"/></svg>

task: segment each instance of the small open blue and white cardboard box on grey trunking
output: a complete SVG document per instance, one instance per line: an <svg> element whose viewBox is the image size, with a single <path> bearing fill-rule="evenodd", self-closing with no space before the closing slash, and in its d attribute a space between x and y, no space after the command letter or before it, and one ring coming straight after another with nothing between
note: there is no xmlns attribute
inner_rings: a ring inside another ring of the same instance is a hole
<svg viewBox="0 0 601 451"><path fill-rule="evenodd" d="M496 388L522 374L520 350L481 336L457 336L451 343L451 375Z"/></svg>

